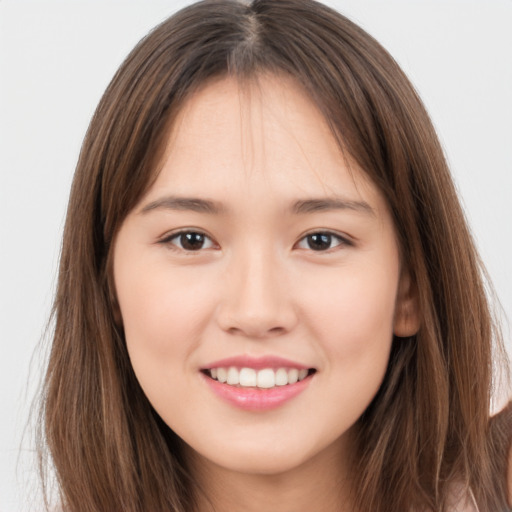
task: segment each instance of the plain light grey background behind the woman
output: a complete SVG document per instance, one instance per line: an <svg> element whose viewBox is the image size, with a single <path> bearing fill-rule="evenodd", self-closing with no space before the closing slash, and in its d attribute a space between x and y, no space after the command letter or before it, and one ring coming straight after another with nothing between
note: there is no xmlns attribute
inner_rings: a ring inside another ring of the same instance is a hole
<svg viewBox="0 0 512 512"><path fill-rule="evenodd" d="M30 432L16 461L88 121L129 50L189 3L0 0L1 512L42 509L29 499ZM418 88L512 317L512 0L327 3L381 41Z"/></svg>

